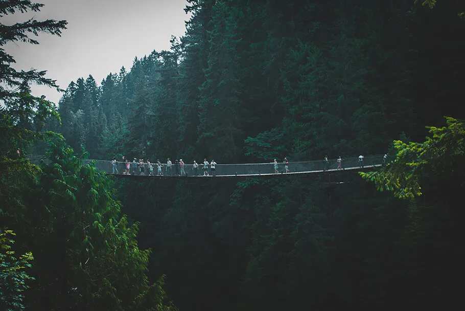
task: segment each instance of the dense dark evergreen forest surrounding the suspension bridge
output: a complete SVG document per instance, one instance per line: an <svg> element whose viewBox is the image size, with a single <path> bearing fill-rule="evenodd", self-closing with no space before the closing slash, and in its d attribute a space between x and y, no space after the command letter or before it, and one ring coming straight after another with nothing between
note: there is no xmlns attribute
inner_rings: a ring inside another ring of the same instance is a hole
<svg viewBox="0 0 465 311"><path fill-rule="evenodd" d="M187 2L169 51L76 77L58 103L30 89L60 89L53 77L16 71L2 47L67 22L0 19L0 310L459 305L465 3ZM2 0L0 18L42 6ZM117 178L83 162L385 153L336 186Z"/></svg>

